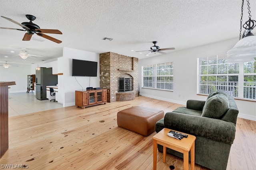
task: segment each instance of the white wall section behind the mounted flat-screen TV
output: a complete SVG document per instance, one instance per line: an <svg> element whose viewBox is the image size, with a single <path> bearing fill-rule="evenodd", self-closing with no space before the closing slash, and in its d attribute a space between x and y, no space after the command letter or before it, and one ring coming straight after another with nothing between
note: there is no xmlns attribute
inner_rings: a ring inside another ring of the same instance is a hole
<svg viewBox="0 0 256 170"><path fill-rule="evenodd" d="M75 105L75 90L86 90L87 87L100 87L100 57L98 53L82 51L77 49L63 48L63 81L64 81L64 103L63 106ZM97 77L72 76L72 59L80 59L98 62ZM79 84L82 86L80 86Z"/></svg>

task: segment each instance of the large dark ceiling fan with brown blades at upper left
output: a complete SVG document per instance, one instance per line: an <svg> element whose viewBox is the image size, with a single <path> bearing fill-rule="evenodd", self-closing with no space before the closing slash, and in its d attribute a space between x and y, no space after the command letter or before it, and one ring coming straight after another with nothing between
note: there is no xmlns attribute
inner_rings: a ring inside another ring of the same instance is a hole
<svg viewBox="0 0 256 170"><path fill-rule="evenodd" d="M62 32L60 32L58 29L40 29L40 27L38 25L36 25L35 23L32 23L32 21L34 21L36 19L35 16L26 15L26 17L30 21L29 22L22 22L22 23L18 23L17 21L14 21L10 18L6 18L4 16L1 16L1 17L6 19L6 20L9 20L13 23L16 23L17 25L20 25L23 28L23 29L16 29L16 28L0 27L1 29L16 29L16 30L19 30L19 31L27 31L27 33L25 33L25 35L22 39L23 41L30 41L32 35L34 33L36 33L36 35L38 35L40 37L44 37L44 38L49 39L51 41L54 41L55 43L61 43L62 42L58 39L55 39L53 37L50 37L50 36L44 34L44 33L62 34Z"/></svg>

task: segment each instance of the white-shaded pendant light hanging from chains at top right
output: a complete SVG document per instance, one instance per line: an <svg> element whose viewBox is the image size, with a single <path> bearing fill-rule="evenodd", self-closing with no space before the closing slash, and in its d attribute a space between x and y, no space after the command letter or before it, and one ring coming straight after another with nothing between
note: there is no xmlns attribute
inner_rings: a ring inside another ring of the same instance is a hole
<svg viewBox="0 0 256 170"><path fill-rule="evenodd" d="M244 33L241 39L241 31L242 31L242 18L243 18L243 6L244 0L242 0L242 10L241 10L241 20L240 20L240 35L239 41L236 45L230 49L227 53L230 55L228 57L228 61L247 61L248 59L253 59L256 57L256 36L251 32L252 29L256 26L256 21L251 20L251 11L250 11L250 3L247 0L248 5L248 14L249 20L246 21L243 25Z"/></svg>

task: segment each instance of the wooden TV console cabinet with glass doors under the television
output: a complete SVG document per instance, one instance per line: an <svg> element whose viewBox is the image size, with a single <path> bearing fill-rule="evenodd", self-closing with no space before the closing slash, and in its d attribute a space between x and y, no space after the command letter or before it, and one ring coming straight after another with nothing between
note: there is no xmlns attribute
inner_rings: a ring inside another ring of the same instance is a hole
<svg viewBox="0 0 256 170"><path fill-rule="evenodd" d="M107 89L100 90L76 90L76 107L88 107L96 104L107 103Z"/></svg>

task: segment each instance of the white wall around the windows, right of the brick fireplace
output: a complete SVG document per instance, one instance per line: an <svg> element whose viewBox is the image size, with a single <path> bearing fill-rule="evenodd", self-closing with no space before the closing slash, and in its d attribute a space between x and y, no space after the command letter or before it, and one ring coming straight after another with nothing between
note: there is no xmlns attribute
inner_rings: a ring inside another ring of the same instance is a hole
<svg viewBox="0 0 256 170"><path fill-rule="evenodd" d="M156 57L139 60L138 74L140 83L140 95L183 105L186 105L186 101L188 99L206 100L206 96L196 95L197 58L226 53L226 51L231 49L237 41L238 39L230 39L182 51L174 51L167 55L158 55ZM165 63L170 61L174 62L173 92L141 88L141 67L143 65ZM190 83L188 84L188 82ZM256 102L236 100L236 104L239 109L238 117L256 121Z"/></svg>

